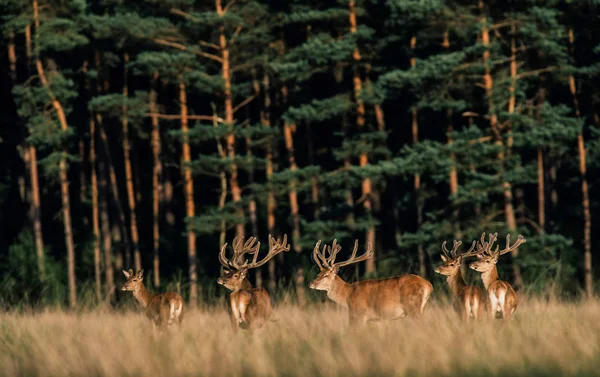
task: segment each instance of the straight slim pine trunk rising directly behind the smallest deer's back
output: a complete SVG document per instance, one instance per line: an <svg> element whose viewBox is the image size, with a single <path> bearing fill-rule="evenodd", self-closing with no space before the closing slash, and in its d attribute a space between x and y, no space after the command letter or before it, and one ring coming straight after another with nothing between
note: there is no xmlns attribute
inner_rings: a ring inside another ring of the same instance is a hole
<svg viewBox="0 0 600 377"><path fill-rule="evenodd" d="M158 114L158 106L156 105L156 84L158 81L158 73L155 72L152 77L152 89L149 96L149 108L152 114ZM158 117L152 116L152 255L153 255L153 271L154 271L154 286L160 286L160 176L162 173L162 163L160 161L160 126Z"/></svg>

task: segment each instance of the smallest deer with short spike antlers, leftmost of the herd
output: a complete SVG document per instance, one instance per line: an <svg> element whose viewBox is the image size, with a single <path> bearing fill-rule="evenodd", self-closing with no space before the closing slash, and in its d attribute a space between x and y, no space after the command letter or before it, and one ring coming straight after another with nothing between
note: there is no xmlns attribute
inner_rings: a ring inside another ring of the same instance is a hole
<svg viewBox="0 0 600 377"><path fill-rule="evenodd" d="M133 297L145 309L146 316L152 321L153 327L164 329L172 324L181 327L183 322L183 298L175 292L151 294L144 286L144 270L134 274L132 269L123 270L127 281L122 291L133 292Z"/></svg>

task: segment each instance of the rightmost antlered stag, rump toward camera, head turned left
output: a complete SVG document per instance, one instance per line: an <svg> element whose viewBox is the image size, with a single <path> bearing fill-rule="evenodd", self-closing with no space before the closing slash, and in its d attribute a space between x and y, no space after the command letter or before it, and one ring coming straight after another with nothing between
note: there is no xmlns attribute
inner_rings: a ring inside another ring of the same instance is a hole
<svg viewBox="0 0 600 377"><path fill-rule="evenodd" d="M510 234L507 234L504 250L499 250L500 246L496 246L496 249L492 251L492 246L497 238L498 233L490 234L489 241L484 242L485 233L481 235L478 260L471 262L469 267L481 273L481 280L488 295L488 312L491 318L496 318L496 315L500 314L502 319L508 320L517 309L517 294L508 282L500 280L496 264L499 256L516 250L525 243L525 238L519 234L517 241L510 246Z"/></svg>

